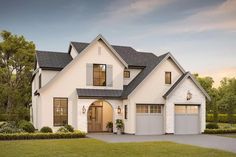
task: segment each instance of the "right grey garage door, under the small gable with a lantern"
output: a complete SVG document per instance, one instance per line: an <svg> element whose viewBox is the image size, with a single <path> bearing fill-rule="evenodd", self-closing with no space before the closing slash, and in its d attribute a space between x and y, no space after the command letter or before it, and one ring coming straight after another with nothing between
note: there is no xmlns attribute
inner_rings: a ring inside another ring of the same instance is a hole
<svg viewBox="0 0 236 157"><path fill-rule="evenodd" d="M175 134L199 133L199 105L175 105Z"/></svg>

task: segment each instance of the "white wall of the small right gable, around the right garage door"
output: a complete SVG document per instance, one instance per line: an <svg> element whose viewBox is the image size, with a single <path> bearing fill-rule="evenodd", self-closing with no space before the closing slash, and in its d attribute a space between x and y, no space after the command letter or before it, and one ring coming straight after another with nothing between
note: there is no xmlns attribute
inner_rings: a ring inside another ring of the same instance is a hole
<svg viewBox="0 0 236 157"><path fill-rule="evenodd" d="M192 93L192 99L186 100L187 92ZM191 79L186 79L178 88L171 93L166 100L166 133L174 133L174 118L175 118L175 104L199 104L200 105L200 131L205 130L205 112L206 102L204 94L192 82Z"/></svg>

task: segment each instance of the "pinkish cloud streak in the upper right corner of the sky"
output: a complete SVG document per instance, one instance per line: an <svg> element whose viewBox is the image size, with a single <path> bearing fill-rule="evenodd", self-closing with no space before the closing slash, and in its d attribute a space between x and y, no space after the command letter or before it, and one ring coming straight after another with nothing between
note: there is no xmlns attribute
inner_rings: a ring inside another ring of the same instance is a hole
<svg viewBox="0 0 236 157"><path fill-rule="evenodd" d="M198 13L175 22L162 25L156 33L188 33L204 31L236 31L236 0L227 0L220 5L211 6Z"/></svg>

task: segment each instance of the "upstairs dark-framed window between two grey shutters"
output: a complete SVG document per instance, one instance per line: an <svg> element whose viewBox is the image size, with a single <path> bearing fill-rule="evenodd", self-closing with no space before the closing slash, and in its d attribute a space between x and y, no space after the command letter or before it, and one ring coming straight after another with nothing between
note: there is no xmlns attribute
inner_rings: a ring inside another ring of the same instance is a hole
<svg viewBox="0 0 236 157"><path fill-rule="evenodd" d="M93 64L93 85L106 86L106 64Z"/></svg>

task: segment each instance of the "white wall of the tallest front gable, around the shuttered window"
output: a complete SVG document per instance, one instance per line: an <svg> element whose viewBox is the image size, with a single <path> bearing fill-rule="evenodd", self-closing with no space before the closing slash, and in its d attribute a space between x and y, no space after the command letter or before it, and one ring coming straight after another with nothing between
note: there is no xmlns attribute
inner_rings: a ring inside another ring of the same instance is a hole
<svg viewBox="0 0 236 157"><path fill-rule="evenodd" d="M98 47L101 47L101 54L98 54ZM86 86L86 64L110 64L113 65L113 86L112 87L94 87ZM80 110L81 105L77 102L76 88L100 88L100 89L123 89L123 71L124 65L115 57L115 55L101 41L92 45L87 52L75 58L75 62L67 65L63 69L63 75L59 74L53 78L53 83L46 85L40 93L41 110L38 110L40 116L39 128L43 126L53 127L53 97L68 98L68 123L76 129L83 128L80 125L81 119L78 116L77 109ZM62 71L61 71L62 72ZM89 104L88 104L89 105ZM77 117L77 118L76 118ZM83 119L83 118L82 118ZM87 125L87 124L86 124ZM53 127L56 130L56 127Z"/></svg>

